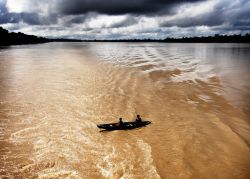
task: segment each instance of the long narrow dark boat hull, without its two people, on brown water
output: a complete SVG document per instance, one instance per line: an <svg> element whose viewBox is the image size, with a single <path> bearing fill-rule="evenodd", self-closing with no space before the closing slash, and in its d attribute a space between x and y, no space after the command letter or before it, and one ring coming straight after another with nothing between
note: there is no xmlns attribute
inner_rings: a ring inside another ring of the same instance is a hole
<svg viewBox="0 0 250 179"><path fill-rule="evenodd" d="M123 124L120 126L119 123L110 123L110 124L99 124L97 125L100 129L105 130L127 130L127 129L135 129L139 127L146 126L150 124L150 121L142 121L142 122L123 122Z"/></svg>

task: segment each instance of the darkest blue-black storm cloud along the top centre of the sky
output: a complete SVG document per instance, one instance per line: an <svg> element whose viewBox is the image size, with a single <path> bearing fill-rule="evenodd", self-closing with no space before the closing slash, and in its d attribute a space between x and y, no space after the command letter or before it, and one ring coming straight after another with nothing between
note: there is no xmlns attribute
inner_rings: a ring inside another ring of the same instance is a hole
<svg viewBox="0 0 250 179"><path fill-rule="evenodd" d="M148 14L170 9L172 6L186 2L203 0L58 0L59 12L66 15L97 12L100 14Z"/></svg>

